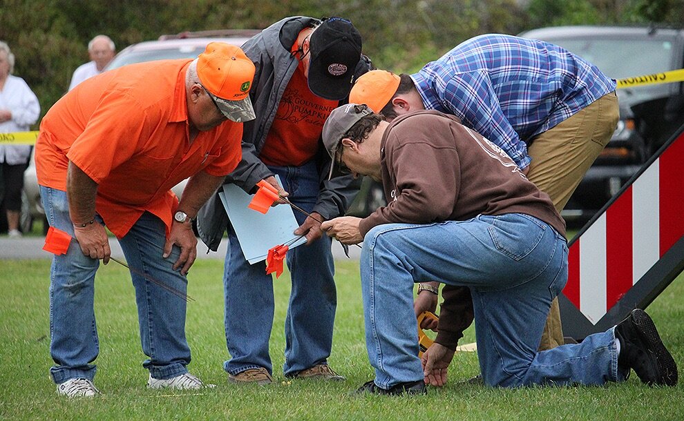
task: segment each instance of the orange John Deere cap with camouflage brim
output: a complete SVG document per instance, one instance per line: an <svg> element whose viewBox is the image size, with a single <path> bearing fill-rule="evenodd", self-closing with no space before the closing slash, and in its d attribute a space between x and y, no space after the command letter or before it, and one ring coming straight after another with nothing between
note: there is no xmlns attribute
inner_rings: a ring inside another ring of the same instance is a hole
<svg viewBox="0 0 684 421"><path fill-rule="evenodd" d="M249 100L254 63L238 46L211 42L197 61L197 76L218 109L232 121L256 118Z"/></svg>

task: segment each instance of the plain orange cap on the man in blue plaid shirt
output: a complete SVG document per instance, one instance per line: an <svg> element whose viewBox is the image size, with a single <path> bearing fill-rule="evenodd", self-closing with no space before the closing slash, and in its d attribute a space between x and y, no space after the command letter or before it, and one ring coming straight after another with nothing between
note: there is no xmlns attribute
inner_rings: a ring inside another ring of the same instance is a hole
<svg viewBox="0 0 684 421"><path fill-rule="evenodd" d="M349 101L353 104L365 104L374 112L380 112L397 93L399 76L387 70L371 70L357 79Z"/></svg>

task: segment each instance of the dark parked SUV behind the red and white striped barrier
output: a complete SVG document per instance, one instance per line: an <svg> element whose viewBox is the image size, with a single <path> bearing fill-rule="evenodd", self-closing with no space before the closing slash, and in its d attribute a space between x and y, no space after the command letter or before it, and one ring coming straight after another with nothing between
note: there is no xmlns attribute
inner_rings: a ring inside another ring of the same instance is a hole
<svg viewBox="0 0 684 421"><path fill-rule="evenodd" d="M522 32L562 46L623 79L684 68L684 30L559 26ZM684 84L618 89L620 121L613 137L562 212L569 225L583 224L602 208L684 123Z"/></svg>

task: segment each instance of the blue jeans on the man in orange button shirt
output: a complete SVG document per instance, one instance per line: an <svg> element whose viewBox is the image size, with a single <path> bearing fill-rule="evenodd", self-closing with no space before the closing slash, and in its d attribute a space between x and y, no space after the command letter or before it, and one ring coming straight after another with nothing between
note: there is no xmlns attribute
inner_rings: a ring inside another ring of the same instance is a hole
<svg viewBox="0 0 684 421"><path fill-rule="evenodd" d="M72 237L66 193L40 187L41 200L50 226ZM99 222L102 219L96 216ZM174 246L162 259L166 241L164 223L151 213L144 213L131 231L119 239L131 269L145 273L180 291L187 291L187 278L173 271L180 250ZM114 264L114 263L111 263ZM50 355L55 366L50 374L59 384L72 378L95 377L99 341L95 326L93 299L95 272L99 260L85 256L72 241L66 255L55 255L50 268ZM135 287L142 351L149 357L142 364L153 378L166 379L187 373L190 348L185 339L186 302L143 276L131 271ZM115 281L112 281L115 282ZM103 286L106 290L107 286ZM111 297L111 300L118 300Z"/></svg>

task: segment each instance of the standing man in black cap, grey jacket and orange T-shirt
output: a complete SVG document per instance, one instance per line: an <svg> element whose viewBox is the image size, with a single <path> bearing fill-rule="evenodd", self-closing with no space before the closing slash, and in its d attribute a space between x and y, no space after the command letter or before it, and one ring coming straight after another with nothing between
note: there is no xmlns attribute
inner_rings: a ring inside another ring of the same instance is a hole
<svg viewBox="0 0 684 421"><path fill-rule="evenodd" d="M249 97L256 119L243 128L243 154L226 182L254 191L264 180L297 212L305 246L287 252L292 300L285 326L290 339L285 348L283 374L293 379L343 380L328 364L336 309L331 239L321 221L344 215L358 191L354 179L327 179L327 155L319 148L321 131L330 112L352 88L352 77L370 70L361 54L361 36L352 23L333 17L287 17L265 28L243 44L256 66ZM276 180L276 175L281 182ZM281 184L282 183L282 184ZM273 326L272 275L265 262L245 260L234 228L218 195L202 208L197 219L202 241L216 250L227 230L231 246L226 255L225 332L230 360L228 381L234 384L273 382L269 339Z"/></svg>

